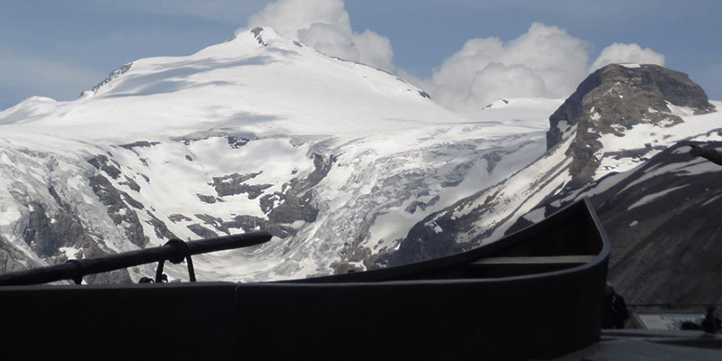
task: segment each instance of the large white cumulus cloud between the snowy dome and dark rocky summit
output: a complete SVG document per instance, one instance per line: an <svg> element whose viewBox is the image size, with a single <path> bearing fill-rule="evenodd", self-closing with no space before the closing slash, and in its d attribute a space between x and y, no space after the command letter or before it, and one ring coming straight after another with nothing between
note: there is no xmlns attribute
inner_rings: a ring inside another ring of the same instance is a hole
<svg viewBox="0 0 722 361"><path fill-rule="evenodd" d="M588 72L589 45L556 26L532 23L511 42L471 39L417 84L455 110L499 97L568 97ZM418 81L418 79L417 79Z"/></svg>

